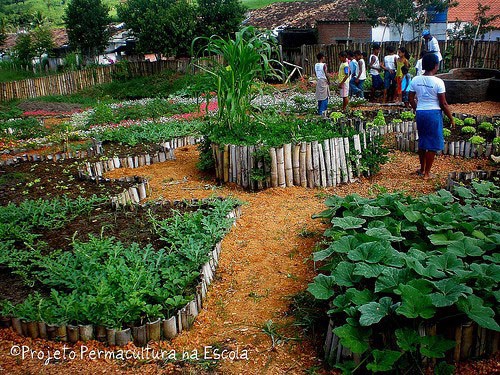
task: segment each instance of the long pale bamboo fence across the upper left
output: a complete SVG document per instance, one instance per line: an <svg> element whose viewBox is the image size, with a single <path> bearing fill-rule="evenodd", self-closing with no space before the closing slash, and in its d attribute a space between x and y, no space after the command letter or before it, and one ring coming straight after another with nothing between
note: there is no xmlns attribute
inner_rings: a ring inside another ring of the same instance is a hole
<svg viewBox="0 0 500 375"><path fill-rule="evenodd" d="M86 87L112 82L123 74L128 76L148 76L163 70L186 72L190 67L189 59L161 60L156 62L128 62L126 67L114 64L77 70L46 77L0 83L0 101L28 99L47 95L69 95Z"/></svg>

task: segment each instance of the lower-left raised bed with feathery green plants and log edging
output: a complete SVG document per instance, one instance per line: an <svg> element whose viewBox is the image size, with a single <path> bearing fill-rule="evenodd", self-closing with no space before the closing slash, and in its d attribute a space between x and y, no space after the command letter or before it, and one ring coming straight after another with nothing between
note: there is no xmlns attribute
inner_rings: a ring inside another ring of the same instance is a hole
<svg viewBox="0 0 500 375"><path fill-rule="evenodd" d="M18 224L3 231L1 271L9 277L1 282L18 275L23 286L0 289L9 300L3 324L32 338L138 346L189 329L214 278L220 240L240 214L237 203L163 201L134 211L95 203L1 208L3 227ZM36 220L22 217L30 210ZM51 238L54 231L68 235Z"/></svg>

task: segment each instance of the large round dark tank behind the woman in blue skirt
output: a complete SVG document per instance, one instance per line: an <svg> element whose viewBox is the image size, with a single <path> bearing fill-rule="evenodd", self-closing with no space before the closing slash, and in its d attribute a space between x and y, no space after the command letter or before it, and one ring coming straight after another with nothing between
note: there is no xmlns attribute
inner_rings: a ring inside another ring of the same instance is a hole
<svg viewBox="0 0 500 375"><path fill-rule="evenodd" d="M458 68L438 74L446 86L446 100L449 104L484 102L493 99L488 96L492 80L500 79L496 69Z"/></svg>

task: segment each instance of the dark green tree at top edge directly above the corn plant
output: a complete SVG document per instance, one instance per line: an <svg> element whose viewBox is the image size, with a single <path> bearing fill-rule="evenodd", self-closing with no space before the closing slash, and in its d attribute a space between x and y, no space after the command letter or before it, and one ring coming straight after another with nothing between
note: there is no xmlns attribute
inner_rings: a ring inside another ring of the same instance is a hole
<svg viewBox="0 0 500 375"><path fill-rule="evenodd" d="M240 0L198 0L198 35L232 35L245 19L247 8Z"/></svg>

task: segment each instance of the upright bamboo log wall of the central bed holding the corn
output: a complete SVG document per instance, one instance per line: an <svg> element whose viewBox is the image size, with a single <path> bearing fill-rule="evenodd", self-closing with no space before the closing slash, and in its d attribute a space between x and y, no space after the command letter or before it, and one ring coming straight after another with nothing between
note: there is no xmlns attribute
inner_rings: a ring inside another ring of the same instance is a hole
<svg viewBox="0 0 500 375"><path fill-rule="evenodd" d="M269 187L337 186L357 181L361 173L360 135L270 147L267 160L256 156L260 148L262 146L212 144L216 178L222 183L262 190ZM356 151L355 158L350 157L353 149ZM269 178L254 179L255 168L270 172Z"/></svg>

